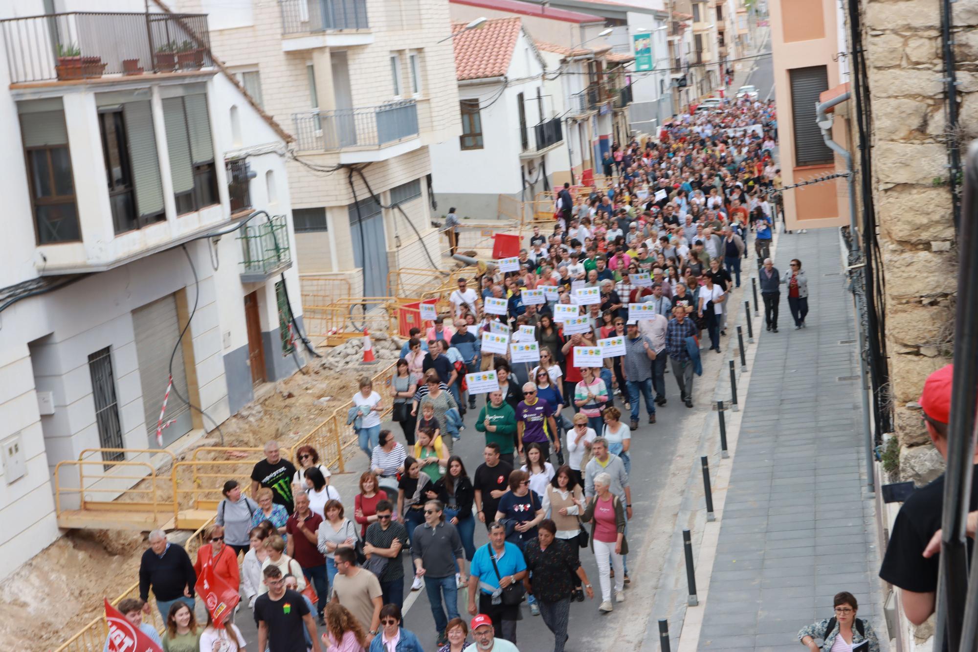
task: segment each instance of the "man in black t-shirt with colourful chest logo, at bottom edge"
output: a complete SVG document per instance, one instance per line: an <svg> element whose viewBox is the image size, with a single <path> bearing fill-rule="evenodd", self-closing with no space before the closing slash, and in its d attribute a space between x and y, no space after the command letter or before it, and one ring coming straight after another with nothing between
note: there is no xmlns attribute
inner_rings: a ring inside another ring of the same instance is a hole
<svg viewBox="0 0 978 652"><path fill-rule="evenodd" d="M272 652L306 652L305 636L309 632L312 649L321 652L312 612L302 594L286 588L278 566L262 571L268 592L254 601L254 622L258 626L258 649ZM267 647L266 647L267 646Z"/></svg>

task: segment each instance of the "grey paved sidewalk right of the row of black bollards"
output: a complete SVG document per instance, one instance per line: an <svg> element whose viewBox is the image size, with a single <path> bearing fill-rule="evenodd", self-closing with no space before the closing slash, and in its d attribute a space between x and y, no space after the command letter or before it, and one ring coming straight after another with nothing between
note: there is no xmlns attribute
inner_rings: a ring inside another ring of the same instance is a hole
<svg viewBox="0 0 978 652"><path fill-rule="evenodd" d="M808 277L808 327L794 330L786 288L779 332L764 330L763 309L755 322L760 338L730 482L718 487L726 495L712 571L697 568L709 583L699 587L700 606L687 610L687 626L694 620L696 627L684 628L683 649L800 649L798 629L830 617L840 590L856 595L859 616L877 632L886 630L837 233L780 234L782 273L793 257ZM888 649L886 641L880 646Z"/></svg>

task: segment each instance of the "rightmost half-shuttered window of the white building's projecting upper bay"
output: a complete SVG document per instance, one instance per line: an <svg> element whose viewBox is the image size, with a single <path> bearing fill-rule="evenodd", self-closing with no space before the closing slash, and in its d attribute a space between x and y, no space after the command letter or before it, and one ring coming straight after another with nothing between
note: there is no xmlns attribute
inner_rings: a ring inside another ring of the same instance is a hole
<svg viewBox="0 0 978 652"><path fill-rule="evenodd" d="M207 96L195 94L164 99L163 122L177 214L217 204L217 175Z"/></svg>

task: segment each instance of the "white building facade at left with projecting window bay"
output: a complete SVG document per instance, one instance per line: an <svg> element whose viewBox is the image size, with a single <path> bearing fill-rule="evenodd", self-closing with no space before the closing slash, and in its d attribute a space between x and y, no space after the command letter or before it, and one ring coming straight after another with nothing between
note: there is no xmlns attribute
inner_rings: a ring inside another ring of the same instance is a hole
<svg viewBox="0 0 978 652"><path fill-rule="evenodd" d="M86 450L156 449L171 371L205 416L171 393L163 446L304 359L284 134L213 66L206 17L56 4L0 16L0 578L59 536L59 462L152 463Z"/></svg>

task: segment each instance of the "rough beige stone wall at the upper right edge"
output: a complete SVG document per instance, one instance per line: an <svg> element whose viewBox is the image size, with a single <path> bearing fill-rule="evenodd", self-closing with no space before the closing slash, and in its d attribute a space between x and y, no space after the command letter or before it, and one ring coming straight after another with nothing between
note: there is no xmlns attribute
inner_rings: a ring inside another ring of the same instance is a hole
<svg viewBox="0 0 978 652"><path fill-rule="evenodd" d="M863 3L889 391L900 476L917 484L943 471L916 400L927 375L952 355L957 255L948 146L978 134L978 0L959 0L952 11L956 134L945 121L939 0Z"/></svg>

